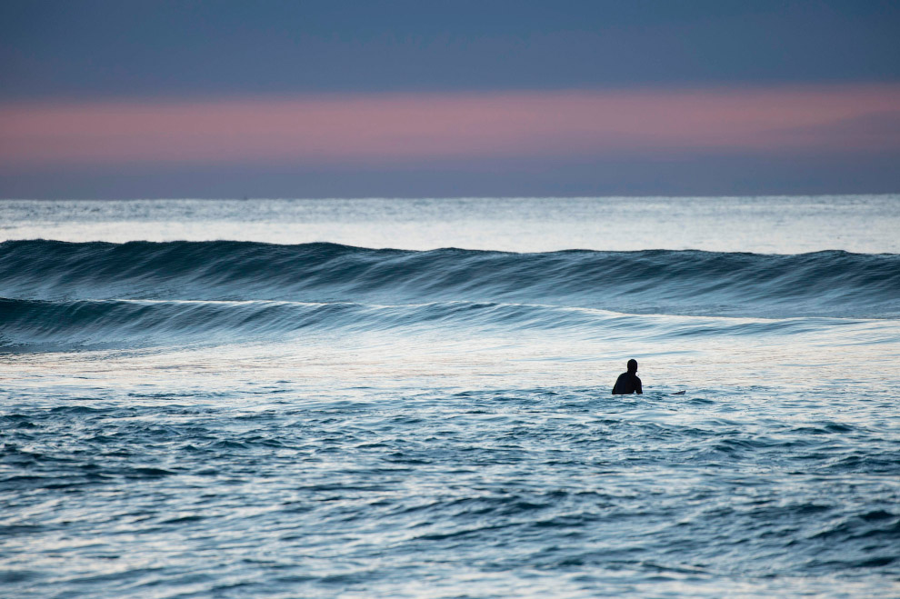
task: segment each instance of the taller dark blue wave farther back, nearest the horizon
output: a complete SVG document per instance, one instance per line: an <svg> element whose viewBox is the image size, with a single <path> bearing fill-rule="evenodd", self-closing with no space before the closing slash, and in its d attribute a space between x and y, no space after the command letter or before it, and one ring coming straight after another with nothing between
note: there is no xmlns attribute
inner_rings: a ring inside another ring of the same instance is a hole
<svg viewBox="0 0 900 599"><path fill-rule="evenodd" d="M555 304L632 314L895 317L900 255L545 254L244 242L0 244L0 296Z"/></svg>

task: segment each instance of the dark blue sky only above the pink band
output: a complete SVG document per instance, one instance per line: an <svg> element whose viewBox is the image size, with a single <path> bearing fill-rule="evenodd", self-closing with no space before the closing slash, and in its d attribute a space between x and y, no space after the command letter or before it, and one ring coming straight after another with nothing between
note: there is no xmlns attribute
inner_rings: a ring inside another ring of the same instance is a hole
<svg viewBox="0 0 900 599"><path fill-rule="evenodd" d="M4 0L0 94L900 81L900 3Z"/></svg>

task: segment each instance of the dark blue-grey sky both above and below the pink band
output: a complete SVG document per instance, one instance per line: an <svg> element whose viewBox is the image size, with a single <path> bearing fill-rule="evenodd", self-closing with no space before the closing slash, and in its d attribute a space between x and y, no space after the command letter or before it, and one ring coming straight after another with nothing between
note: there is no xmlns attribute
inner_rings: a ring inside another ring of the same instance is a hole
<svg viewBox="0 0 900 599"><path fill-rule="evenodd" d="M3 0L0 81L0 109L384 92L900 84L900 2ZM897 122L893 111L885 114L876 122ZM2 134L0 150L14 139ZM78 151L76 140L67 143ZM511 155L381 168L0 165L0 197L900 191L900 140L880 143L853 155L824 147L793 158L675 148L667 157L535 163Z"/></svg>

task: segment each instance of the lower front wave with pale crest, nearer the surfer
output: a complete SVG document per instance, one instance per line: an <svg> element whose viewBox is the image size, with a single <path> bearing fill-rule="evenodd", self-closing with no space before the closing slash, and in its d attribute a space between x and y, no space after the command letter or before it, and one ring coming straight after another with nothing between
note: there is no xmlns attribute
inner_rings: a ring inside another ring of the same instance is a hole
<svg viewBox="0 0 900 599"><path fill-rule="evenodd" d="M159 300L16 300L0 298L0 348L6 351L183 343L235 343L296 334L535 331L604 341L643 338L806 334L872 321L748 319L619 314L591 308L489 302L352 304ZM892 329L893 331L893 329ZM891 331L882 334L892 334ZM893 333L897 336L897 333Z"/></svg>

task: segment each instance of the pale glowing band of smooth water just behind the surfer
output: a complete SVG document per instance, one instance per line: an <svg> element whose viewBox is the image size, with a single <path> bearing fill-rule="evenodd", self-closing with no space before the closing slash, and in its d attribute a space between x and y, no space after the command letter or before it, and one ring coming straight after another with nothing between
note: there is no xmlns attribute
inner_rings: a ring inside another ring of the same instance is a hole
<svg viewBox="0 0 900 599"><path fill-rule="evenodd" d="M650 318L691 326L777 322ZM545 330L493 334L460 330L449 339L439 330L415 334L386 330L344 332L337 338L303 332L275 342L244 344L196 343L176 348L151 344L127 350L8 354L5 362L15 369L17 386L28 386L29 381L43 386L49 376L55 388L65 386L73 393L98 384L144 391L187 384L197 386L205 396L220 390L225 397L235 397L247 386L266 384L336 395L367 394L375 389L519 385L596 388L602 395L608 393L607 387L630 357L641 364L639 374L648 390L715 390L727 381L732 387L762 383L785 393L839 391L835 385L845 380L855 391L879 393L896 383L900 376L895 369L897 355L885 352L885 344L894 346L900 340L898 325L891 321L837 322L844 324L804 334L803 344L796 343L795 335L782 338L776 332L663 338L651 333L612 341ZM871 343L869 323L878 325L885 344Z"/></svg>

